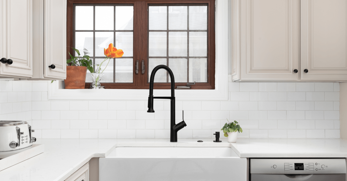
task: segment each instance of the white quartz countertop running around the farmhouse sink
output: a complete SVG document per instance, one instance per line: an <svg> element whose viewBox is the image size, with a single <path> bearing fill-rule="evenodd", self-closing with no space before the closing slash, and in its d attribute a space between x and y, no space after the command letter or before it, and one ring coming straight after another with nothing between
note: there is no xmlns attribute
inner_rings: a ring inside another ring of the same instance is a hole
<svg viewBox="0 0 347 181"><path fill-rule="evenodd" d="M240 157L347 157L342 139L38 139L45 151L0 171L0 181L64 181L92 157L105 157L115 147L232 147Z"/></svg>

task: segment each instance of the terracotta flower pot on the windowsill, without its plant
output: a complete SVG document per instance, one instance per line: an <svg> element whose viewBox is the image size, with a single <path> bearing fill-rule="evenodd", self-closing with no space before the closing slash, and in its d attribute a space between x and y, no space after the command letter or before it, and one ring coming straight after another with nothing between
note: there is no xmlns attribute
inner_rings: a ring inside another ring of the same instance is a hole
<svg viewBox="0 0 347 181"><path fill-rule="evenodd" d="M67 66L65 89L84 89L86 83L87 67Z"/></svg>

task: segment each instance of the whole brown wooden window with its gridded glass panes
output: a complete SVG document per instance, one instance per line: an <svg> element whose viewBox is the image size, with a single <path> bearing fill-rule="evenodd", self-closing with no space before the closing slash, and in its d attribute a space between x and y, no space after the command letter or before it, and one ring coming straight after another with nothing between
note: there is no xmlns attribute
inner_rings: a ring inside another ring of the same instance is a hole
<svg viewBox="0 0 347 181"><path fill-rule="evenodd" d="M214 89L214 3L68 0L67 51L87 50L100 64L110 43L122 49L124 55L103 72L105 89L148 89L153 68L161 64L170 67L176 86L196 82L191 89ZM91 81L88 71L85 88ZM155 89L170 88L166 70L154 82Z"/></svg>

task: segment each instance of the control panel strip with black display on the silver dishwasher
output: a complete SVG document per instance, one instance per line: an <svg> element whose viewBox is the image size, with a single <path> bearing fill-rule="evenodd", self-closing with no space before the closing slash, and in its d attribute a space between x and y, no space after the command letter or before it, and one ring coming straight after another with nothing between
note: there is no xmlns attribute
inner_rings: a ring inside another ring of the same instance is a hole
<svg viewBox="0 0 347 181"><path fill-rule="evenodd" d="M259 174L346 173L346 159L250 159L249 165Z"/></svg>

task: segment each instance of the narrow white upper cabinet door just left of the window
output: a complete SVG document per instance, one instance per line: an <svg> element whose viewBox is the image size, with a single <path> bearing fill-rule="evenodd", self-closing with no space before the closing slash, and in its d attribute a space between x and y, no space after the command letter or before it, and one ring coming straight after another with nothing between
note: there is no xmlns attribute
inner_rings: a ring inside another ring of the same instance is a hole
<svg viewBox="0 0 347 181"><path fill-rule="evenodd" d="M44 76L66 79L66 0L45 0L44 6Z"/></svg>

